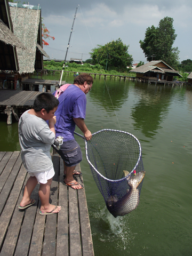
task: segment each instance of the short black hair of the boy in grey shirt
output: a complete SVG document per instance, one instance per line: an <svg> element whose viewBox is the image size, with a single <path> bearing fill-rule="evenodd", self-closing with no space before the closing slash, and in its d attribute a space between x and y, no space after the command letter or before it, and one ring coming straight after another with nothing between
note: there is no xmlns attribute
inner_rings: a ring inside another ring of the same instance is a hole
<svg viewBox="0 0 192 256"><path fill-rule="evenodd" d="M50 110L57 107L59 105L59 100L54 97L53 94L49 92L43 92L37 95L33 109L38 112L41 111L43 108L49 113Z"/></svg>

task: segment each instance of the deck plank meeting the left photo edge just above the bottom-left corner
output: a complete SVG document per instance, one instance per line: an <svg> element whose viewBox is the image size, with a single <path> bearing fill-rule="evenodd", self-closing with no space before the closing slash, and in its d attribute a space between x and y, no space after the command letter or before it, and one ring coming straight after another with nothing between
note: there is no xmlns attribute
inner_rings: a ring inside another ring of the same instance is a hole
<svg viewBox="0 0 192 256"><path fill-rule="evenodd" d="M3 244L3 240L5 237L7 228L9 227L9 223L13 215L15 205L18 201L25 177L26 177L26 169L23 165L21 165L17 179L15 180L14 186L11 190L9 199L6 202L6 205L3 209L3 213L1 214L1 217L0 217L0 247Z"/></svg>

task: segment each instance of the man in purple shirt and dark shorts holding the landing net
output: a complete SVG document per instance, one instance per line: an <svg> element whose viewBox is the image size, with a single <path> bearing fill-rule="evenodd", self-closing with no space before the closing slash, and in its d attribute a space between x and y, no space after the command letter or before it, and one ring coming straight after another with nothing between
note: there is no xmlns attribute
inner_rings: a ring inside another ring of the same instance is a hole
<svg viewBox="0 0 192 256"><path fill-rule="evenodd" d="M74 79L74 84L67 85L65 91L59 94L59 106L55 112L56 137L63 137L63 144L57 150L64 163L64 185L73 189L82 189L83 185L74 180L75 167L82 161L82 151L74 138L75 125L84 133L86 140L91 140L92 134L87 129L84 119L86 115L86 94L91 91L93 78L81 74ZM53 94L57 97L58 91ZM76 173L77 174L77 173ZM79 173L78 173L79 174Z"/></svg>

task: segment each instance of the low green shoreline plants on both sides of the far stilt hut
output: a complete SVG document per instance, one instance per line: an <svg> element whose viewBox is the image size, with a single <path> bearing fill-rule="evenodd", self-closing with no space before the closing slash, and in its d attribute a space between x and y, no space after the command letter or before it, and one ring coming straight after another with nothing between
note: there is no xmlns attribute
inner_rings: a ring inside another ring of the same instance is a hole
<svg viewBox="0 0 192 256"><path fill-rule="evenodd" d="M43 61L43 65L44 65L44 69L47 70L58 70L55 71L55 73L59 73L62 70L63 67L63 63L64 61L61 62L55 62L54 60L51 61ZM65 66L65 71L72 71L72 72L83 72L83 73L95 73L95 74L103 74L103 75L118 75L118 76L130 76L130 77L135 77L136 73L131 72L130 73L130 69L127 68L127 71L117 71L117 70L110 70L109 68L107 68L106 70L103 69L103 67L99 64L96 65L90 65L90 63L83 63L83 65L79 65L77 63L66 63ZM174 79L177 79L177 81L181 81L181 82L187 82L187 77L189 75L189 73L182 73L179 72L182 77L174 77Z"/></svg>

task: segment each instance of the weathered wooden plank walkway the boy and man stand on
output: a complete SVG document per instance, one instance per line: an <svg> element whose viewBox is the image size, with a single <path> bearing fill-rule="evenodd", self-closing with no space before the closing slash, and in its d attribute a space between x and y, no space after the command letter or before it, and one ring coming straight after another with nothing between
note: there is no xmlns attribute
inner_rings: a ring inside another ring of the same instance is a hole
<svg viewBox="0 0 192 256"><path fill-rule="evenodd" d="M60 213L39 214L39 185L31 196L36 203L19 210L28 174L19 151L0 152L0 256L94 255L85 190L62 184L63 161L58 155L53 165L50 202L61 205Z"/></svg>

